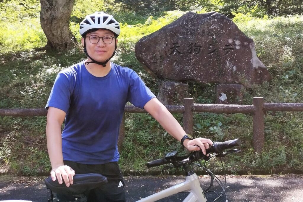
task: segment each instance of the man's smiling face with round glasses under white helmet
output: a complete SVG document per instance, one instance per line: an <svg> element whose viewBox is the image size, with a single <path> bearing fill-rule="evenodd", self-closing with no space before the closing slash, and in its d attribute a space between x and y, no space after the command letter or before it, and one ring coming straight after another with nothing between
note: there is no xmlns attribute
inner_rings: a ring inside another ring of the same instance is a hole
<svg viewBox="0 0 303 202"><path fill-rule="evenodd" d="M81 39L82 45L84 45L84 40L85 40L86 50L88 55L98 62L103 62L112 56L113 52L115 51L115 40L116 43L118 43L118 40L113 38L112 43L105 44L102 38L100 38L98 43L94 44L91 43L89 40L89 37L93 35L98 37L104 37L104 36L114 37L114 34L106 29L98 29L97 31L88 33L85 38Z"/></svg>

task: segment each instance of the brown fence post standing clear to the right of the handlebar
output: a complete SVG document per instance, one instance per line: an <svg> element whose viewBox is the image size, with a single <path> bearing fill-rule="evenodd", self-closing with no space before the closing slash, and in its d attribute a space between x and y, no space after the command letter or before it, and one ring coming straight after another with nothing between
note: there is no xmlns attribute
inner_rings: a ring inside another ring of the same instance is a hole
<svg viewBox="0 0 303 202"><path fill-rule="evenodd" d="M260 153L264 146L264 98L254 98L253 104L255 108L253 123L253 146L255 152Z"/></svg>

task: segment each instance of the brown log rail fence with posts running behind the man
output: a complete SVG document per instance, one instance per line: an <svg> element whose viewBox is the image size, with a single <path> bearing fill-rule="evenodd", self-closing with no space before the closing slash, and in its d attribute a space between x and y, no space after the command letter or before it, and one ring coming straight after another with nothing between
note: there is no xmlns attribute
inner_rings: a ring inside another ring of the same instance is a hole
<svg viewBox="0 0 303 202"><path fill-rule="evenodd" d="M264 146L264 113L266 111L303 111L303 103L264 103L264 98L254 98L253 104L195 104L194 99L185 98L184 106L166 106L172 114L183 114L183 128L186 133L193 134L194 113L243 113L253 114L253 146L261 152ZM147 113L144 109L132 105L125 106L126 113ZM0 109L0 116L46 116L45 109ZM121 146L125 137L124 117L120 126L118 145Z"/></svg>

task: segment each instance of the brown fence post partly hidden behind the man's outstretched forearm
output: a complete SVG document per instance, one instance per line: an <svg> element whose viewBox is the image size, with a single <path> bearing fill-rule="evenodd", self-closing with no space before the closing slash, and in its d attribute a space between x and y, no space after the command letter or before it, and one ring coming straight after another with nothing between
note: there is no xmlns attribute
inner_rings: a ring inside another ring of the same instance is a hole
<svg viewBox="0 0 303 202"><path fill-rule="evenodd" d="M187 134L193 135L194 131L194 114L192 112L192 107L194 106L193 98L184 98L184 109L183 113L183 129Z"/></svg>

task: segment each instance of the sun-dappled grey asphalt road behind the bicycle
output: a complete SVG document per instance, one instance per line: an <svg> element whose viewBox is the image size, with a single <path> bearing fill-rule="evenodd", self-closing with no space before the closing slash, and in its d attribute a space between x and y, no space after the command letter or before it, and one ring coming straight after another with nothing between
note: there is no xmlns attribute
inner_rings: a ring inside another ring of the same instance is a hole
<svg viewBox="0 0 303 202"><path fill-rule="evenodd" d="M0 200L32 200L46 202L49 191L43 179L45 177L11 177L0 176ZM201 187L205 189L210 183L210 177L199 176ZM224 181L222 176L219 179ZM182 176L126 176L126 201L137 201L153 193L184 181ZM214 183L212 190L220 192L220 187ZM274 176L227 176L226 193L228 201L245 202L303 202L303 175ZM160 202L182 201L188 193L179 193L166 197ZM208 201L215 194L206 194ZM221 198L225 202L225 197Z"/></svg>

